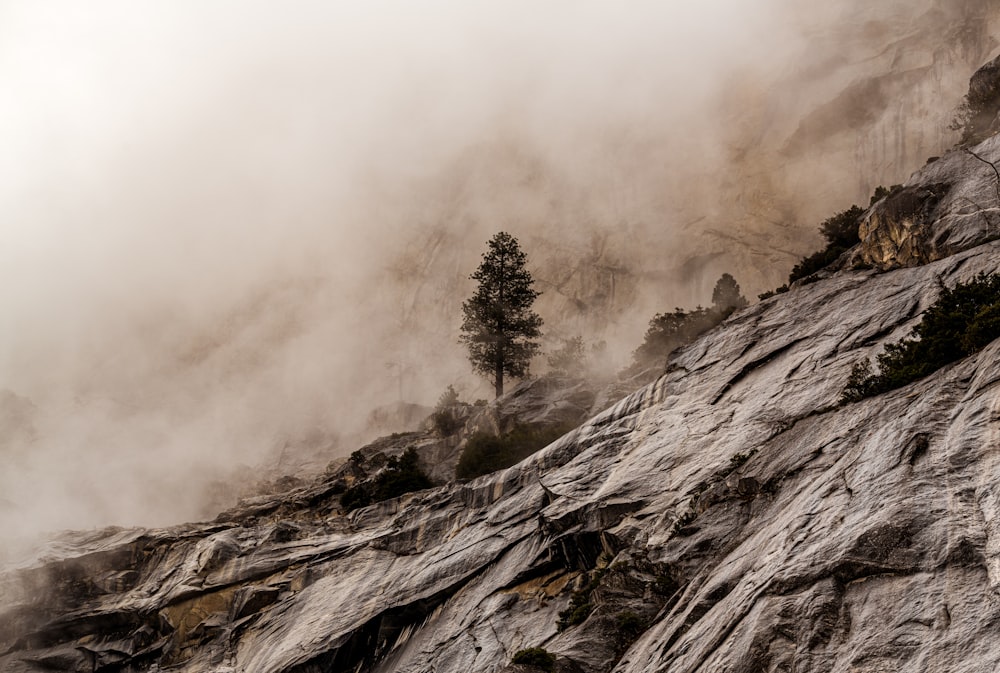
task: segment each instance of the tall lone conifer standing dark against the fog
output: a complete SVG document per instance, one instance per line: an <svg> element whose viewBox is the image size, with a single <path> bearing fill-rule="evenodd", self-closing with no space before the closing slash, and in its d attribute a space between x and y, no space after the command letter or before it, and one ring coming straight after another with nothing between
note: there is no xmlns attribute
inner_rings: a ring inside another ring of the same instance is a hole
<svg viewBox="0 0 1000 673"><path fill-rule="evenodd" d="M462 304L460 340L469 348L473 369L492 379L500 397L504 376L528 373L542 319L531 310L539 292L517 239L501 231L487 245L482 264L470 276L479 286Z"/></svg>

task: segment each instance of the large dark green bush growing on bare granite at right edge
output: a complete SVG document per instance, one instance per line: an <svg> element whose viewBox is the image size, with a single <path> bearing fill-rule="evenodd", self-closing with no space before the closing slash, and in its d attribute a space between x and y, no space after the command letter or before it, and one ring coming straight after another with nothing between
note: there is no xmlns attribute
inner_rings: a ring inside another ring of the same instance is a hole
<svg viewBox="0 0 1000 673"><path fill-rule="evenodd" d="M878 368L859 362L841 395L857 402L901 388L971 355L1000 337L1000 276L981 273L968 283L942 288L910 336L888 344Z"/></svg>

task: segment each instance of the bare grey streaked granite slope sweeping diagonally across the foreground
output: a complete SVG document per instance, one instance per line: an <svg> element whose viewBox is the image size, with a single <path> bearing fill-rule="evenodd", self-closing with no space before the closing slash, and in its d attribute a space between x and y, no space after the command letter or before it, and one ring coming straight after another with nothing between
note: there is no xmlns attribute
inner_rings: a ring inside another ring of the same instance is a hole
<svg viewBox="0 0 1000 673"><path fill-rule="evenodd" d="M736 313L503 472L343 515L319 479L0 575L0 670L993 671L1000 343L838 406L991 242ZM507 668L506 670L517 670Z"/></svg>

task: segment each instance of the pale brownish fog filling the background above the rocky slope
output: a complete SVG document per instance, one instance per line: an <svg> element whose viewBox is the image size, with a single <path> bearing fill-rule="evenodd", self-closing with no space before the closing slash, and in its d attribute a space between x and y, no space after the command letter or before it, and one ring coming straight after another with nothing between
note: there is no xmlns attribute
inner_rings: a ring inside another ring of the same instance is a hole
<svg viewBox="0 0 1000 673"><path fill-rule="evenodd" d="M986 6L0 3L0 535L211 516L487 397L457 331L501 229L617 365L722 271L780 284L953 140L990 27L920 40Z"/></svg>

